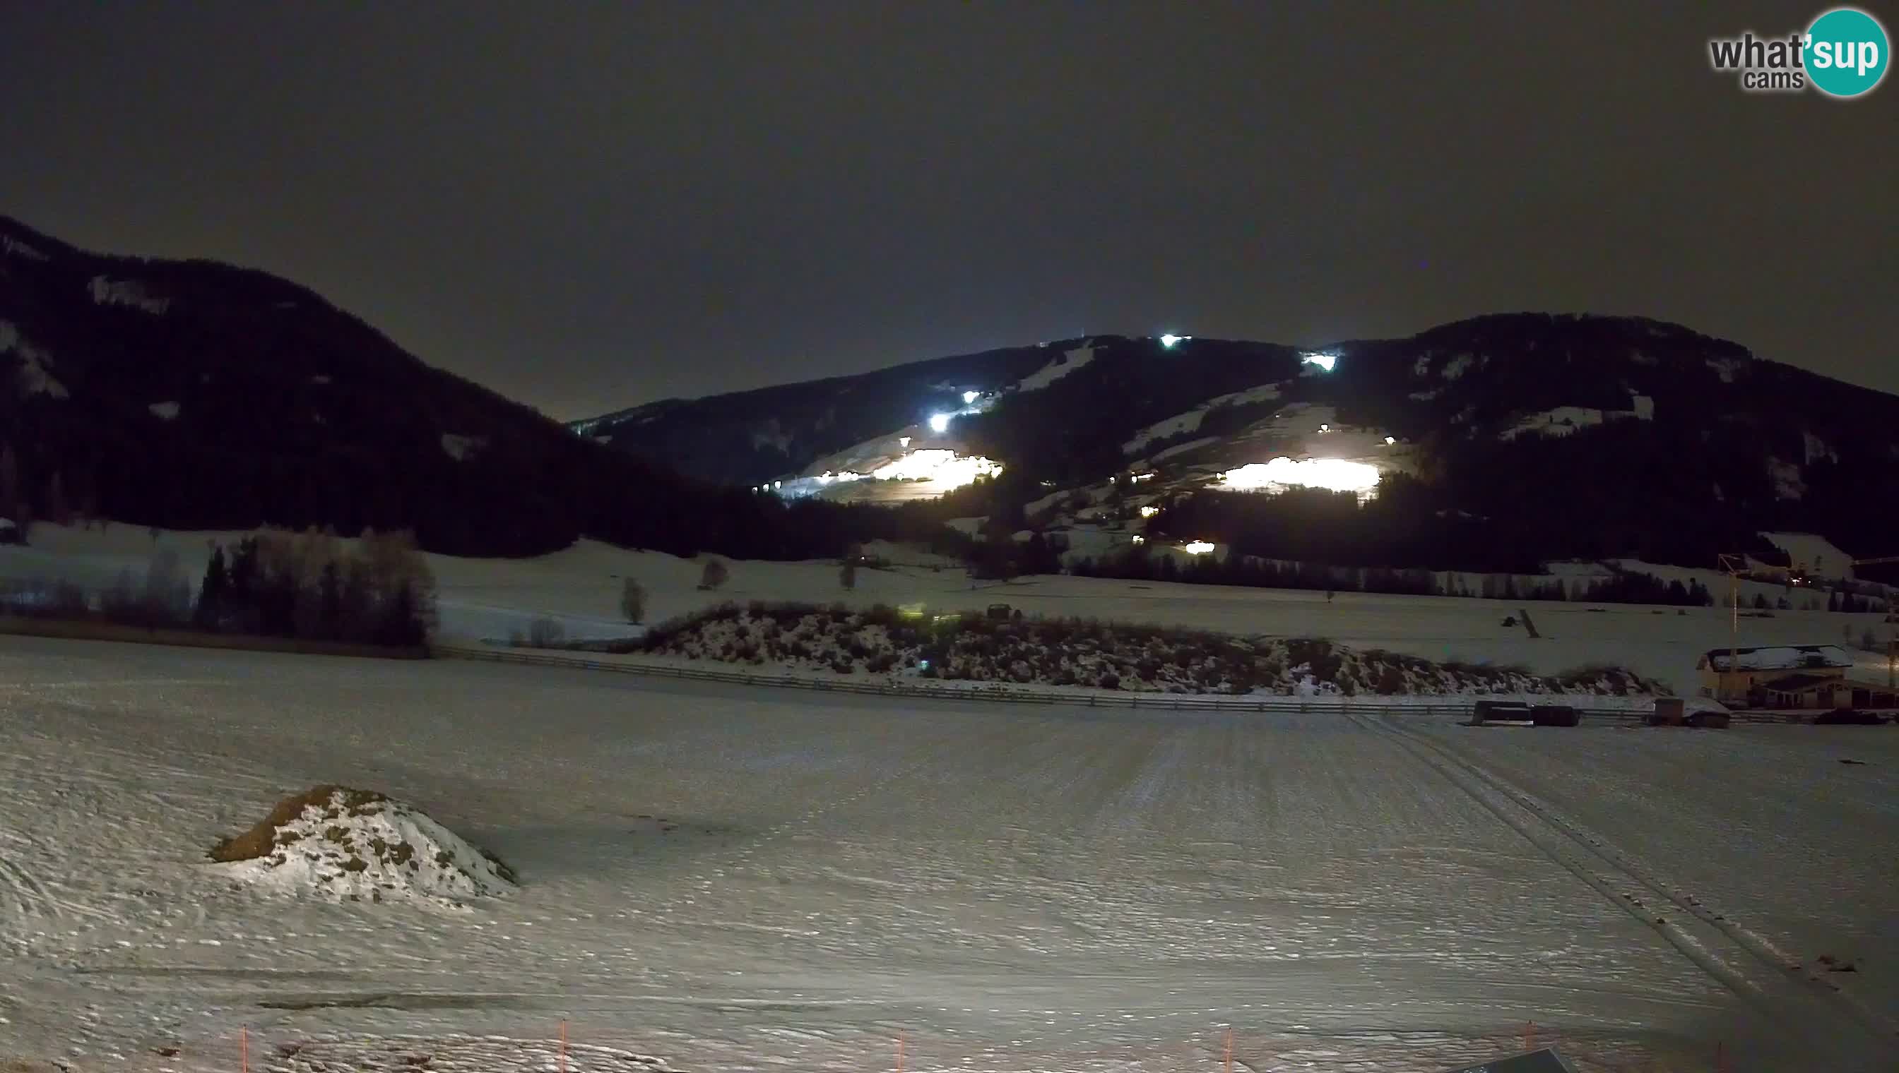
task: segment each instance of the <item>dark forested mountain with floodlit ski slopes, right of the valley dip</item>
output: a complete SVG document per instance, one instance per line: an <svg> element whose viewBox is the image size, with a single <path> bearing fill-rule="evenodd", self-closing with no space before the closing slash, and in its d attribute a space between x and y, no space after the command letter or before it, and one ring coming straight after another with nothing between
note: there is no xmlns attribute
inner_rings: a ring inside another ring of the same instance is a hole
<svg viewBox="0 0 1899 1073"><path fill-rule="evenodd" d="M1899 532L1899 397L1639 317L1487 315L1324 348L1090 336L575 427L754 488L868 475L929 442L1012 473L1014 503L1145 473L1143 492L1179 496L1280 458L1352 463L1352 486L1417 479L1420 509L1521 530L1519 545L1550 543L1551 558L1686 555L1662 545L1694 532L1702 564L1711 547L1755 547L1762 528L1878 555ZM1565 528L1607 536L1557 549Z"/></svg>

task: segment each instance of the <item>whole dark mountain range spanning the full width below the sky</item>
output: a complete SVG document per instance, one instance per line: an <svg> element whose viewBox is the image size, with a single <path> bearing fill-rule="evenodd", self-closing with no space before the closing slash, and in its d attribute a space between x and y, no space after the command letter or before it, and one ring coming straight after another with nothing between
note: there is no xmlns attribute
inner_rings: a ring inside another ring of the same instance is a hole
<svg viewBox="0 0 1899 1073"><path fill-rule="evenodd" d="M743 488L894 446L931 414L953 414L940 439L1003 477L898 509ZM1350 437L1346 454L1384 469L1369 503L1208 490ZM1138 471L1153 482L1134 488ZM1890 555L1899 397L1662 321L1502 313L1318 349L1092 336L562 427L306 287L95 254L0 216L0 517L414 528L458 555L592 536L813 558L927 539L950 517L1020 532L1027 505L1065 496L1100 503L1105 530L1363 566L1707 566L1774 528ZM1033 524L1052 534L1065 511Z"/></svg>

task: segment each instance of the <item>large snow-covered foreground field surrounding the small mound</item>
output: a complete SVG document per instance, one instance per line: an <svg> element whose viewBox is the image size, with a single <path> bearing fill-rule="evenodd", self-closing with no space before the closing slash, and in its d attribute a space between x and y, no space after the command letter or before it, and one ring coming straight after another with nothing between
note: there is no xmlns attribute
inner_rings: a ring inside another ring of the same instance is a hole
<svg viewBox="0 0 1899 1073"><path fill-rule="evenodd" d="M287 900L205 862L315 782L414 803L518 891ZM1589 1073L1717 1045L1738 1073L1891 1069L1895 813L1891 727L0 638L0 1062L234 1069L247 1029L254 1069L541 1071L566 1020L575 1071L891 1069L898 1033L904 1069L1213 1069L1229 1026L1255 1071L1428 1071L1534 1022Z"/></svg>

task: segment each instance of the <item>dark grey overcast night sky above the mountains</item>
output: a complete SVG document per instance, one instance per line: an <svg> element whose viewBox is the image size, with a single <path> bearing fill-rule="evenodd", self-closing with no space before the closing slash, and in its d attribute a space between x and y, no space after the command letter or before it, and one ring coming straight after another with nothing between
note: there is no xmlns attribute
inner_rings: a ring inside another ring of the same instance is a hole
<svg viewBox="0 0 1899 1073"><path fill-rule="evenodd" d="M1707 68L1821 9L0 0L0 213L287 275L556 418L1517 310L1899 391L1899 74Z"/></svg>

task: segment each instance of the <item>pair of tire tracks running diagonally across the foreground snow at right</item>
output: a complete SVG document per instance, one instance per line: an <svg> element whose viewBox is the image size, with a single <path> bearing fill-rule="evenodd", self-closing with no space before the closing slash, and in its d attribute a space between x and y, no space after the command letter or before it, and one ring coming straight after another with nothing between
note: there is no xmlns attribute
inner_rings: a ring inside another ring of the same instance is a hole
<svg viewBox="0 0 1899 1073"><path fill-rule="evenodd" d="M1724 913L1715 913L1698 896L1658 877L1601 836L1415 729L1363 714L1346 718L1396 739L1420 763L1464 790L1555 864L1654 929L1703 972L1741 999L1762 1007L1772 1024L1789 1037L1806 1035L1806 1043L1819 1048L1859 1039L1874 1046L1882 1058L1899 1060L1899 1031L1888 1018L1838 988L1819 982L1802 986L1793 978L1793 972L1804 972L1798 963L1789 963L1787 955L1776 951L1762 936ZM1679 915L1660 915L1656 900L1675 906L1673 912Z"/></svg>

